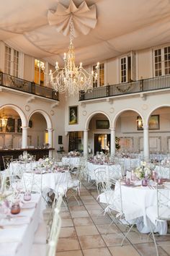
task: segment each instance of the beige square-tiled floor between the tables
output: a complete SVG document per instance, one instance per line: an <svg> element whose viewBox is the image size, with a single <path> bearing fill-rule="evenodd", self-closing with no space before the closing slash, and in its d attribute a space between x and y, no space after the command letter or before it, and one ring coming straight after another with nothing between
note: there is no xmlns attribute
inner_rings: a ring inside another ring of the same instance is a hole
<svg viewBox="0 0 170 256"><path fill-rule="evenodd" d="M155 256L152 239L146 234L131 231L121 247L121 226L112 225L106 233L111 219L103 216L102 206L97 202L97 190L81 188L79 205L70 198L68 208L62 206L62 228L56 256ZM102 213L102 214L100 214ZM170 236L158 237L160 256L170 255Z"/></svg>

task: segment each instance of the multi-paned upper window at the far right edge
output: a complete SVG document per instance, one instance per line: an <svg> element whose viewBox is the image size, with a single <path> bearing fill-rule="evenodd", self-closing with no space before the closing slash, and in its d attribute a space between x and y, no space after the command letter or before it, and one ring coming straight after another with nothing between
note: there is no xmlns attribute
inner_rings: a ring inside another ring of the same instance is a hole
<svg viewBox="0 0 170 256"><path fill-rule="evenodd" d="M155 77L170 74L170 46L154 50Z"/></svg>

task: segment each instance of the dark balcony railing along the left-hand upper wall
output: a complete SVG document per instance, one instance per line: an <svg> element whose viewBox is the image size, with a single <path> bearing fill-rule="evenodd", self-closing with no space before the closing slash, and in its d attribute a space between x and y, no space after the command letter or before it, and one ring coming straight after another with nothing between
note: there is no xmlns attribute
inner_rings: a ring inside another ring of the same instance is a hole
<svg viewBox="0 0 170 256"><path fill-rule="evenodd" d="M30 93L43 98L50 98L55 101L59 101L59 94L56 93L52 88L40 86L35 84L35 82L23 80L19 77L14 77L3 72L0 72L0 85L5 88L19 90L24 93Z"/></svg>

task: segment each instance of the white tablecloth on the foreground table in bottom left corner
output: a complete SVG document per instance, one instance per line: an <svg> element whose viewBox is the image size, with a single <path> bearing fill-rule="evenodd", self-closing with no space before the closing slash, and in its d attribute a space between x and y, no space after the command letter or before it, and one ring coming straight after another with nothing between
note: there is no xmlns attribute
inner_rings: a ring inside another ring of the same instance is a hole
<svg viewBox="0 0 170 256"><path fill-rule="evenodd" d="M27 208L30 202L33 202L32 208ZM40 207L40 194L32 194L32 200L25 202L21 212L17 216L13 216L14 219L9 223L8 221L4 222L4 229L0 231L0 256L30 255L34 233L40 221ZM23 216L23 218L19 216ZM17 225L18 220L19 225ZM2 221L1 225L3 225Z"/></svg>

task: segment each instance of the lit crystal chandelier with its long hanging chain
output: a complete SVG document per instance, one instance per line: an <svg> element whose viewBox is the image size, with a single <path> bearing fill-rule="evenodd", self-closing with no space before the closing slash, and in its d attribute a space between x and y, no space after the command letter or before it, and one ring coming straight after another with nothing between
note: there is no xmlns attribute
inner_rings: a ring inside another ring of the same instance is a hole
<svg viewBox="0 0 170 256"><path fill-rule="evenodd" d="M68 53L64 54L63 61L64 67L60 68L58 62L55 64L55 72L50 70L49 82L53 86L53 89L58 93L66 93L66 95L76 95L86 93L93 89L93 82L97 80L97 70L99 69L99 62L95 67L95 70L87 72L80 63L79 67L75 65L75 53L73 47L73 16L71 15L70 22L70 43L68 47Z"/></svg>

